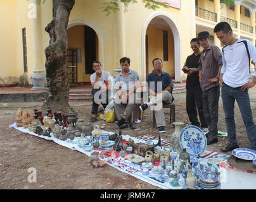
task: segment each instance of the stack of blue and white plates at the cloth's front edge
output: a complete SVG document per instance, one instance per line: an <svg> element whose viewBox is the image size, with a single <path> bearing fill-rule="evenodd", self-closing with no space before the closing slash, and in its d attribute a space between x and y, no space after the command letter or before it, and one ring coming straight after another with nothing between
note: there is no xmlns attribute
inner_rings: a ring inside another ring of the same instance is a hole
<svg viewBox="0 0 256 202"><path fill-rule="evenodd" d="M212 173L200 175L200 186L203 189L216 189L219 186L218 176Z"/></svg>

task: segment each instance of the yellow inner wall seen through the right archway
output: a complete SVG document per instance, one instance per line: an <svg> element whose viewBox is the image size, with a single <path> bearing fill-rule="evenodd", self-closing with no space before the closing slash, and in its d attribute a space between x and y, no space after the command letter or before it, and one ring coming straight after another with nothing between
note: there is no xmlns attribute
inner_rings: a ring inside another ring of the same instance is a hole
<svg viewBox="0 0 256 202"><path fill-rule="evenodd" d="M163 29L155 28L155 25L148 26L146 35L148 35L148 72L153 70L152 61L160 57L163 61L163 71L174 76L174 39L172 32L168 31L168 61L163 61Z"/></svg>

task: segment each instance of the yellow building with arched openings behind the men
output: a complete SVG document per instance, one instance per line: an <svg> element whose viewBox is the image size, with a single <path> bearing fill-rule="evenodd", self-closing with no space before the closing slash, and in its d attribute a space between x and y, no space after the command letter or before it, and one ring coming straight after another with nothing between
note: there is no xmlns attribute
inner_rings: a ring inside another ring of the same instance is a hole
<svg viewBox="0 0 256 202"><path fill-rule="evenodd" d="M221 47L213 32L219 21L228 21L238 38L255 44L253 0L236 0L229 8L220 0L159 0L169 8L144 7L142 0L130 4L124 12L106 16L101 9L108 0L76 0L70 13L68 33L68 71L70 83L90 83L91 62L98 60L110 74L120 70L119 59L131 59L131 69L141 81L153 70L155 57L163 60L163 71L179 83L186 78L181 68L192 50L189 42L199 32L208 31L212 44ZM44 28L52 20L52 1L0 0L0 84L18 83L19 79L45 76L44 49L49 35ZM77 56L76 56L77 55Z"/></svg>

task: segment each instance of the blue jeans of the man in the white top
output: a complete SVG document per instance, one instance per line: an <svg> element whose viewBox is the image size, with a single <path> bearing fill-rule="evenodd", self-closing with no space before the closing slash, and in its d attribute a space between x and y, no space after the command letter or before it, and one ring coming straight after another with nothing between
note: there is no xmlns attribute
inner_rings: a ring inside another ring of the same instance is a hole
<svg viewBox="0 0 256 202"><path fill-rule="evenodd" d="M250 141L250 148L252 150L256 150L256 126L253 122L248 90L243 91L240 87L232 88L223 83L221 93L229 143L231 145L237 145L236 124L234 122L234 102L236 101L238 103L243 122L245 123L247 136Z"/></svg>

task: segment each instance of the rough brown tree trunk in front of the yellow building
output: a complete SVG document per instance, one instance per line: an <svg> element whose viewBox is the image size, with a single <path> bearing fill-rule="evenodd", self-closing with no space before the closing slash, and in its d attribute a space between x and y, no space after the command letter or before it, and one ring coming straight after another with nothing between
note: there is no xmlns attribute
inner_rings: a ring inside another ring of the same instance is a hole
<svg viewBox="0 0 256 202"><path fill-rule="evenodd" d="M53 111L68 113L70 105L69 82L67 71L67 25L70 11L75 0L53 0L53 20L45 28L50 35L49 46L44 50L46 54L46 98L43 109L51 107Z"/></svg>

